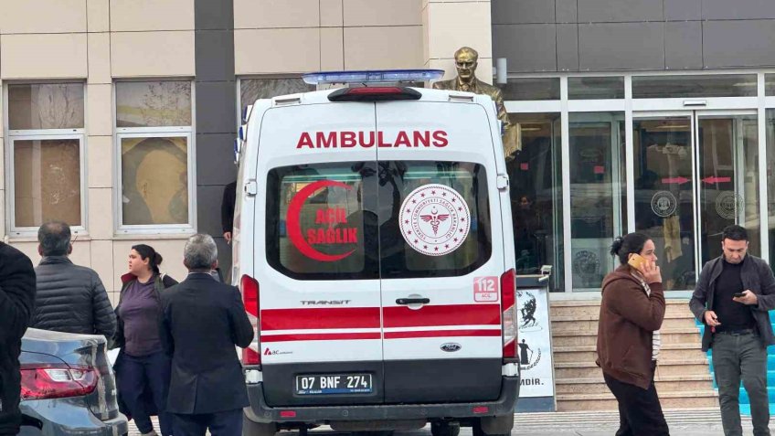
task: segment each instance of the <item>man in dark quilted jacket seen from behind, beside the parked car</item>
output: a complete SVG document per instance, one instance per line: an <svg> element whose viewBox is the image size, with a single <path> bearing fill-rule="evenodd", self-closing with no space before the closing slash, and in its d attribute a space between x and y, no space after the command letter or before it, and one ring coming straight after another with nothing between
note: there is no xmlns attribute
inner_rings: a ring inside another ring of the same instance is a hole
<svg viewBox="0 0 775 436"><path fill-rule="evenodd" d="M37 230L37 299L31 327L57 332L103 335L116 331L108 292L97 272L68 259L72 252L70 228L51 221Z"/></svg>

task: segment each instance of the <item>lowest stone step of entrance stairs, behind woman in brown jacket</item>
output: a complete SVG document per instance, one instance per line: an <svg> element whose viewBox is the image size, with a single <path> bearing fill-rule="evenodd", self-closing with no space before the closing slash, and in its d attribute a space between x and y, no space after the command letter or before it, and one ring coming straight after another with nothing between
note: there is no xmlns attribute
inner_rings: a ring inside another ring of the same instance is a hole
<svg viewBox="0 0 775 436"><path fill-rule="evenodd" d="M716 391L696 390L683 392L660 392L659 402L663 409L712 408L718 406ZM557 395L557 411L568 410L616 410L618 404L609 394L563 394Z"/></svg>

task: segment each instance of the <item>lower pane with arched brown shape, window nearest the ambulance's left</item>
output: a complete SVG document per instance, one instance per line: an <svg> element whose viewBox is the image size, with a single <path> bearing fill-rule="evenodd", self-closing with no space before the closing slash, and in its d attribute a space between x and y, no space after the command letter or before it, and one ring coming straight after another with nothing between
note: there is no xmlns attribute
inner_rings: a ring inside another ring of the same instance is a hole
<svg viewBox="0 0 775 436"><path fill-rule="evenodd" d="M122 224L188 222L188 136L122 136Z"/></svg>

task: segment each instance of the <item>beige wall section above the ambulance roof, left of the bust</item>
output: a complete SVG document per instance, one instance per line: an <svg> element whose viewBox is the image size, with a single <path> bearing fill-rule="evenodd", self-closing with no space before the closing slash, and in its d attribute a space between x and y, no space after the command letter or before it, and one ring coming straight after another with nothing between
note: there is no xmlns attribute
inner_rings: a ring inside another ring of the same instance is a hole
<svg viewBox="0 0 775 436"><path fill-rule="evenodd" d="M237 75L420 68L422 0L234 0Z"/></svg>

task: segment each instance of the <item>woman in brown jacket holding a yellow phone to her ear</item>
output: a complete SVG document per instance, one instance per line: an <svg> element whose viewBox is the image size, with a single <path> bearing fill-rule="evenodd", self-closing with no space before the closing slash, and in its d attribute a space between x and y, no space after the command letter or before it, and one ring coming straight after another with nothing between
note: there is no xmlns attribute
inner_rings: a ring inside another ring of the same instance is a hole
<svg viewBox="0 0 775 436"><path fill-rule="evenodd" d="M602 283L597 363L619 402L616 435L669 435L653 382L664 319L654 243L642 233L630 233L613 241L610 254L621 265ZM628 263L635 254L644 260L637 268Z"/></svg>

